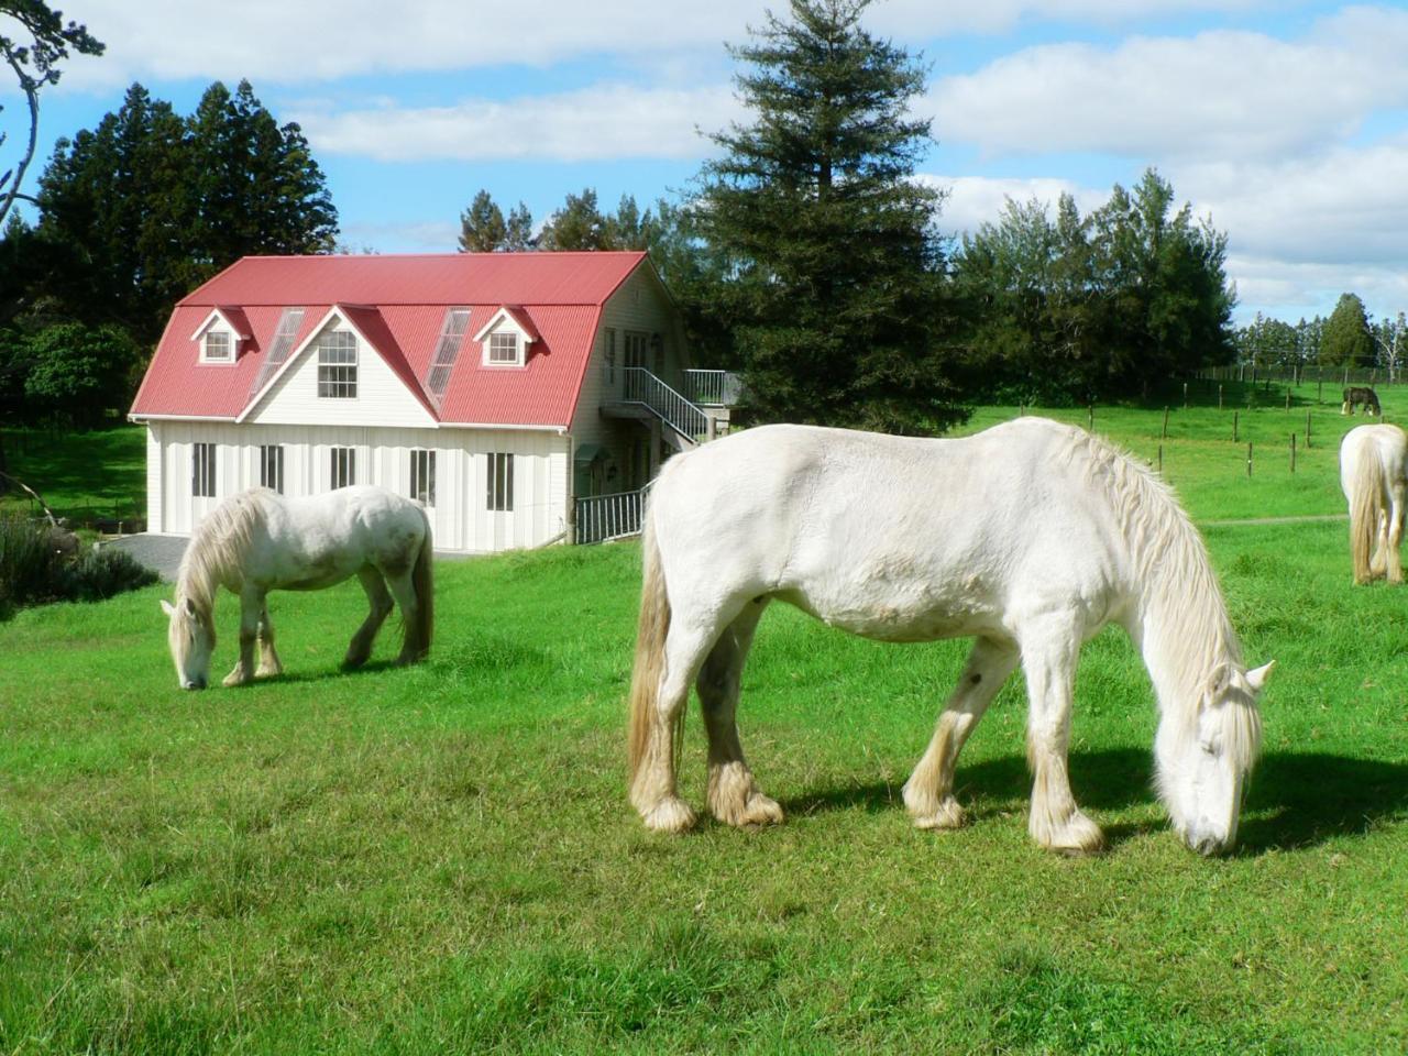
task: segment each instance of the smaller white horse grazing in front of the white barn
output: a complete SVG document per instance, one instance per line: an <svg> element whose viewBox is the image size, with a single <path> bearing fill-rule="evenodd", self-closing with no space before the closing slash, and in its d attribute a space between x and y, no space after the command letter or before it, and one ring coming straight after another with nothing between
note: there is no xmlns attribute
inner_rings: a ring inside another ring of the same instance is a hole
<svg viewBox="0 0 1408 1056"><path fill-rule="evenodd" d="M366 486L308 498L283 498L262 487L231 496L191 535L176 574L176 604L162 600L182 689L206 687L221 586L239 596L239 662L225 676L225 686L239 686L283 670L265 604L270 590L321 590L351 576L362 580L372 611L352 635L344 666L356 667L372 655L393 597L406 624L397 663L422 659L431 648L435 598L431 525L418 504Z"/></svg>

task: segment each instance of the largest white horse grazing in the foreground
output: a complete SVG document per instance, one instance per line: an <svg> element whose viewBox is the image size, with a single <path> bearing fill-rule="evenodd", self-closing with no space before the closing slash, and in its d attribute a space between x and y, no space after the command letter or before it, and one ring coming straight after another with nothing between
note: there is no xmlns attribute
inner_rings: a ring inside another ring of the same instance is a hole
<svg viewBox="0 0 1408 1056"><path fill-rule="evenodd" d="M1098 849L1066 773L1081 643L1110 621L1143 652L1159 698L1157 787L1188 846L1236 839L1256 759L1256 698L1202 539L1173 493L1086 432L1019 418L966 439L770 425L672 459L643 535L631 686L631 801L652 829L694 812L676 794L676 738L696 683L708 805L732 825L781 821L743 760L734 712L772 598L866 638L976 635L904 801L919 828L955 828L953 767L1021 662L1031 697L1029 831Z"/></svg>

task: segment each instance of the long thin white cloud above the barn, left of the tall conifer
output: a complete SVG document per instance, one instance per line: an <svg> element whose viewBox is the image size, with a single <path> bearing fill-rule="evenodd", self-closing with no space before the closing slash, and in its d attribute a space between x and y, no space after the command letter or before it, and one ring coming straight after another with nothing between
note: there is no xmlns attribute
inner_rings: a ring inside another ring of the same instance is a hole
<svg viewBox="0 0 1408 1056"><path fill-rule="evenodd" d="M698 158L738 113L728 87L642 90L598 86L507 101L465 100L448 107L321 108L293 117L320 152L379 161L427 159L615 161Z"/></svg>

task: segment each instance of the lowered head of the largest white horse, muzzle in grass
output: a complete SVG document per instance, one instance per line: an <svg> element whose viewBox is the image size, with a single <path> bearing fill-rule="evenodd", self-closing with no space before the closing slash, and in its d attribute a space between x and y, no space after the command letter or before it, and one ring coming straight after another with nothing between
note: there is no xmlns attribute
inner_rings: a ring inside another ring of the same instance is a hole
<svg viewBox="0 0 1408 1056"><path fill-rule="evenodd" d="M1256 700L1276 662L1217 670L1197 710L1164 715L1155 738L1159 796L1174 831L1200 855L1236 843L1246 779L1262 742Z"/></svg>

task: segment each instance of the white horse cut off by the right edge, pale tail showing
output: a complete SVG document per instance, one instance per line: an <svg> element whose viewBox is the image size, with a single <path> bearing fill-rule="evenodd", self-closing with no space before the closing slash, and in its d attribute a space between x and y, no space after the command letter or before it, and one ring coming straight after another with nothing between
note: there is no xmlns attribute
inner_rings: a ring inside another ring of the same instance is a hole
<svg viewBox="0 0 1408 1056"><path fill-rule="evenodd" d="M1402 583L1398 543L1408 486L1408 434L1397 425L1359 425L1339 444L1339 486L1349 501L1354 582Z"/></svg>

